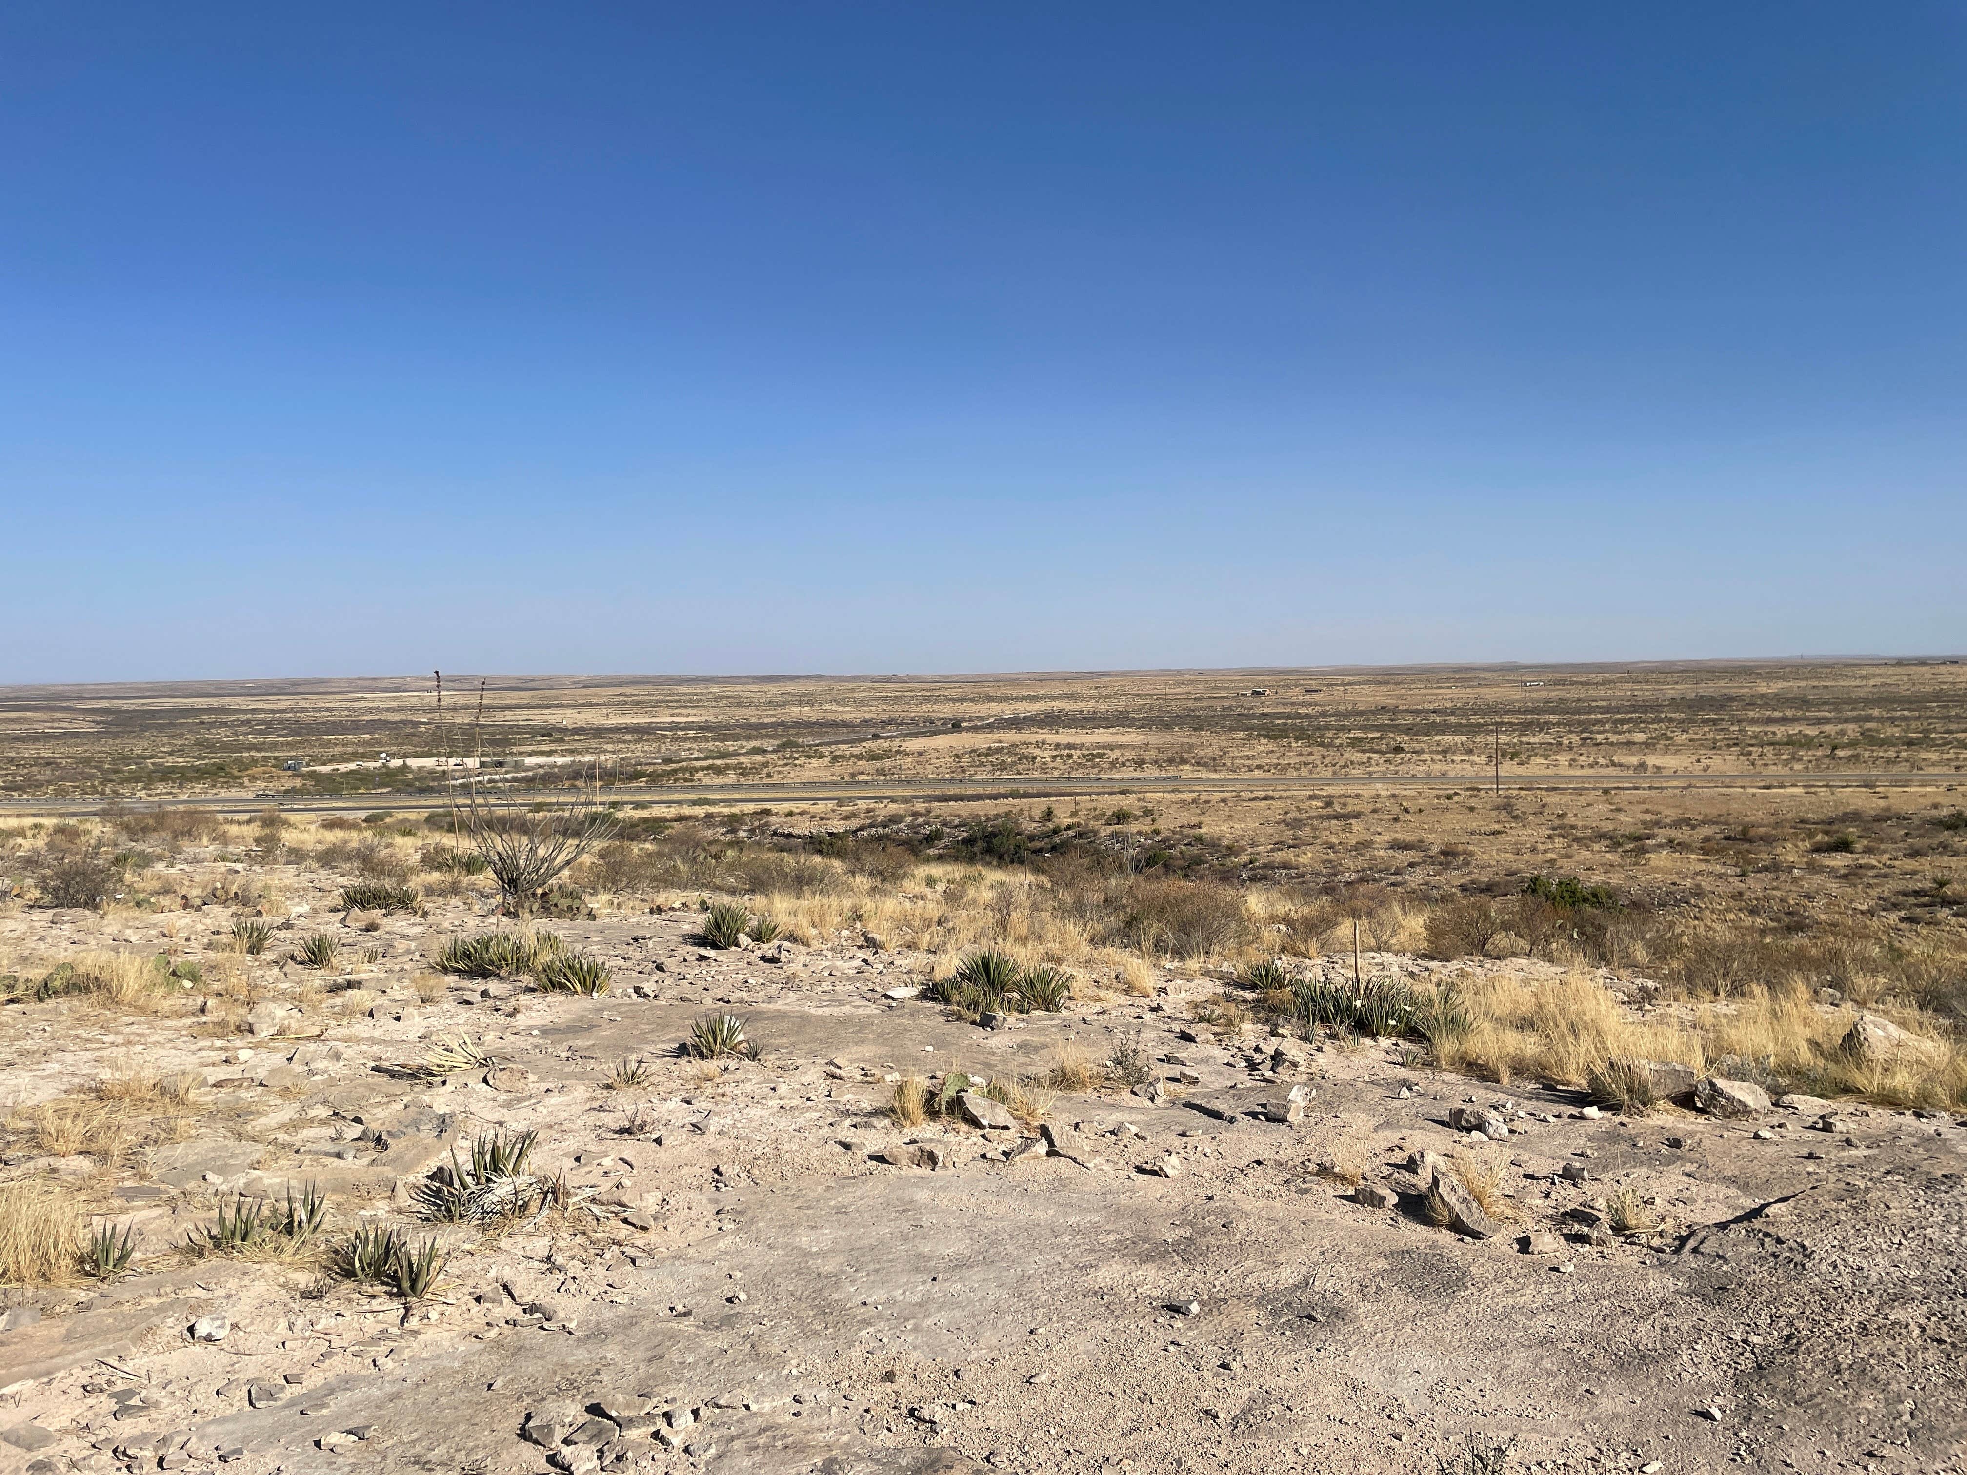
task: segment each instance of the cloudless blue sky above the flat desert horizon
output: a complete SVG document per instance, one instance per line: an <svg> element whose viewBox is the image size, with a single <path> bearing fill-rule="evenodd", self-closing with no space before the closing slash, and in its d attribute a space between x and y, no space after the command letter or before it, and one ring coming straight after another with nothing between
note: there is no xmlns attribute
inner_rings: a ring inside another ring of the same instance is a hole
<svg viewBox="0 0 1967 1475"><path fill-rule="evenodd" d="M1967 647L1959 4L0 10L0 680Z"/></svg>

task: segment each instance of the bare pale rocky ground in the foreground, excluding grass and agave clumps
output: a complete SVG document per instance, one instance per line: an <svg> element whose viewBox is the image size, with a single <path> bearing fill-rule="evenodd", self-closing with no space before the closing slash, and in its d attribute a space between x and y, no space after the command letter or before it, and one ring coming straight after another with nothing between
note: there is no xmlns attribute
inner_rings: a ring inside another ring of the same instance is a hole
<svg viewBox="0 0 1967 1475"><path fill-rule="evenodd" d="M230 920L16 911L0 942L195 960ZM12 1107L132 1060L205 1082L177 1141L118 1162L16 1135L4 1176L71 1184L142 1249L108 1282L0 1290L0 1469L1967 1469L1949 1115L1629 1119L1404 1044L1204 1027L1208 977L982 1029L907 997L926 958L714 952L698 920L553 924L610 966L598 999L435 985L437 946L486 926L445 901L317 907L254 964L250 1011L197 985L153 1015L0 1009ZM376 962L277 962L307 930ZM761 1056L681 1056L726 1009ZM431 1070L458 1036L488 1062ZM885 1113L905 1074L1035 1080L1062 1044L1137 1044L1153 1080L1056 1092L1043 1129L982 1099L984 1125ZM610 1082L624 1058L639 1086ZM561 1208L419 1223L429 1170L496 1129L539 1133ZM1493 1213L1456 1160L1495 1172ZM439 1288L183 1249L228 1196L309 1182L323 1245L437 1233ZM1613 1233L1619 1206L1658 1227Z"/></svg>

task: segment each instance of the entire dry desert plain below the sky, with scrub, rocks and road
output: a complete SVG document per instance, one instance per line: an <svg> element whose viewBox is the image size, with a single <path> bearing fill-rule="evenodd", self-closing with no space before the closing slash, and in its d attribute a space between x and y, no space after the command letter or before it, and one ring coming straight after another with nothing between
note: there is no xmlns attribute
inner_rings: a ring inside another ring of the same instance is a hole
<svg viewBox="0 0 1967 1475"><path fill-rule="evenodd" d="M1961 667L478 702L0 694L0 1469L1961 1469Z"/></svg>

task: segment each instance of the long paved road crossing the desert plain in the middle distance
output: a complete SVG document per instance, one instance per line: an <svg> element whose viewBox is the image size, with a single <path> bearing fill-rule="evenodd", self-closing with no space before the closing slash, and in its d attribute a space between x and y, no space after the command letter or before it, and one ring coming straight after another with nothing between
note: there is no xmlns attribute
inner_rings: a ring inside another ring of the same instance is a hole
<svg viewBox="0 0 1967 1475"><path fill-rule="evenodd" d="M1361 789L1489 789L1489 773L1347 773L1328 777L1298 775L1206 775L1145 773L1129 777L1050 777L1011 775L1003 779L832 779L820 783L690 783L620 785L608 798L626 804L797 804L822 800L976 800L976 798L1080 798L1098 795L1332 795ZM1505 791L1526 789L1937 789L1967 783L1967 773L1503 773ZM523 791L531 798L533 791ZM14 814L92 814L108 798L8 798L0 812ZM258 798L254 795L207 795L197 798L120 800L244 812L277 808L287 814L336 814L372 810L427 810L445 802L443 795L340 795Z"/></svg>

